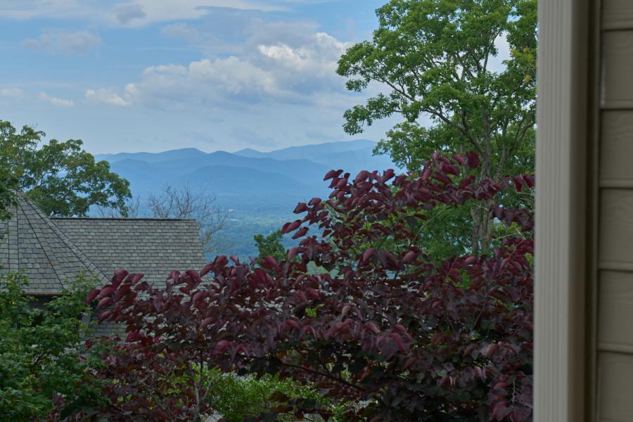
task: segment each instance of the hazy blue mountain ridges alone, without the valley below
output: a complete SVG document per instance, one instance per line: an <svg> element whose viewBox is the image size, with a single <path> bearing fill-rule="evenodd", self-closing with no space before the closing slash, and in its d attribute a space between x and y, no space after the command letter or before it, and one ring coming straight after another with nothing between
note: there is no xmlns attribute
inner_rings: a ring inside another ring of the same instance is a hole
<svg viewBox="0 0 633 422"><path fill-rule="evenodd" d="M276 196L282 196L286 202L288 198L309 199L326 193L323 177L331 169L357 174L361 170L395 167L387 156L372 154L375 146L373 141L360 139L293 146L269 153L250 148L236 153L205 153L196 148L182 148L162 153L96 155L95 158L110 162L114 172L130 181L137 196L170 184L187 185L218 198L226 196L223 203L259 201L262 197L274 200Z"/></svg>

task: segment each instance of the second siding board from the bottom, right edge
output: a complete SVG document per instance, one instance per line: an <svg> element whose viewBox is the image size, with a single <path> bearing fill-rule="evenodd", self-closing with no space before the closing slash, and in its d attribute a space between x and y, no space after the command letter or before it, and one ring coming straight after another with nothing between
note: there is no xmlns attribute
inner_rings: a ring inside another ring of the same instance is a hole
<svg viewBox="0 0 633 422"><path fill-rule="evenodd" d="M601 350L633 350L633 273L601 271L598 308Z"/></svg>

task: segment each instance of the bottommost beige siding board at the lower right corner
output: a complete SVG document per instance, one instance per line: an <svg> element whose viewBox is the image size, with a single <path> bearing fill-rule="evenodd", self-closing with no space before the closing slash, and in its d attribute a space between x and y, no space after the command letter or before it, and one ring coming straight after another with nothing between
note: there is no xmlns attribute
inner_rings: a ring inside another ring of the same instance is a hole
<svg viewBox="0 0 633 422"><path fill-rule="evenodd" d="M602 352L598 365L600 421L631 422L633 356Z"/></svg>

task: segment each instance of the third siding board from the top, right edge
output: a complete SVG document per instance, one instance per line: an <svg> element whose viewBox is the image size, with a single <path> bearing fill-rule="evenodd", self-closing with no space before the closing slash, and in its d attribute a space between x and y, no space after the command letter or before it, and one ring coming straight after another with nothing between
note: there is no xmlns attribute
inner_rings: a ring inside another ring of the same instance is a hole
<svg viewBox="0 0 633 422"><path fill-rule="evenodd" d="M633 187L633 110L603 112L601 132L601 186Z"/></svg>

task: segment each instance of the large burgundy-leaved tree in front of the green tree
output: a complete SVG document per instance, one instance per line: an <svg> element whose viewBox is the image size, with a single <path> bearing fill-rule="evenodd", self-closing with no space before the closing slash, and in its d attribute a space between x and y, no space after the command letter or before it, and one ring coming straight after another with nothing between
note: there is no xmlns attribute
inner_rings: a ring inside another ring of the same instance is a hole
<svg viewBox="0 0 633 422"><path fill-rule="evenodd" d="M435 154L420 174L328 172L329 198L299 204L302 218L283 226L301 239L285 262L217 257L165 288L117 273L91 295L108 306L101 319L127 326L106 363L130 385L107 393L132 394L129 411L156 409L131 378L160 390L162 371L203 363L313 383L354 421L531 420L531 212L491 210L521 233L490 256L434 264L416 246L437 204L533 186L476 181L478 162Z"/></svg>

